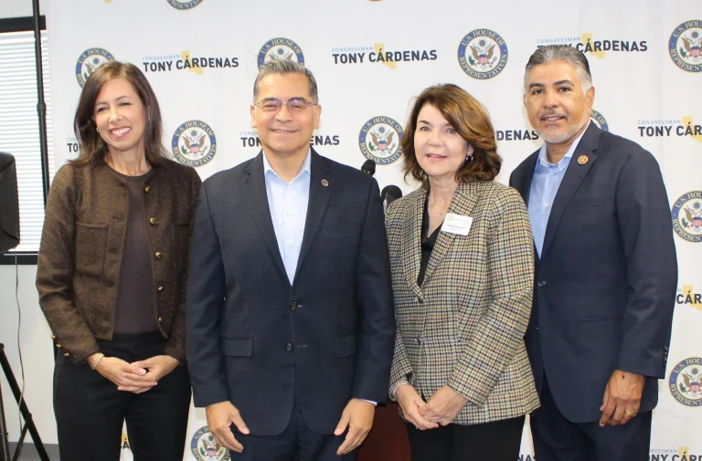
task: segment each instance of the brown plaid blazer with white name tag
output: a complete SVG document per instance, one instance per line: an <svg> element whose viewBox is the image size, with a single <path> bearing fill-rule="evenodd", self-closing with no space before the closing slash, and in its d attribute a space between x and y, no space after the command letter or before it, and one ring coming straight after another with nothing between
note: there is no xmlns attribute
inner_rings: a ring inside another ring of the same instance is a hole
<svg viewBox="0 0 702 461"><path fill-rule="evenodd" d="M528 414L539 403L524 344L534 283L527 208L511 187L461 184L449 213L472 216L471 229L439 234L419 287L427 193L422 187L387 212L398 324L390 383L408 377L426 399L448 384L469 400L456 424Z"/></svg>

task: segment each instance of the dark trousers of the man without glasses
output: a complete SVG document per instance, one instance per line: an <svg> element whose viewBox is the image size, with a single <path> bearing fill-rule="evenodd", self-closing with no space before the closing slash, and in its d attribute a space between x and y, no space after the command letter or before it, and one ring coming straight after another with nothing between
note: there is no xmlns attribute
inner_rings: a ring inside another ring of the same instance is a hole
<svg viewBox="0 0 702 461"><path fill-rule="evenodd" d="M538 461L647 461L651 415L637 414L618 426L571 423L558 410L544 376L541 407L531 414L534 454Z"/></svg>

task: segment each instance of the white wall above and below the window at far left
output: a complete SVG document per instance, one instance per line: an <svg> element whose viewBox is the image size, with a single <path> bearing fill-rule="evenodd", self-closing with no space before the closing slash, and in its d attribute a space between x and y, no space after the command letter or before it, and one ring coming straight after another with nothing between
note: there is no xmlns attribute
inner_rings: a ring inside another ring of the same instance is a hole
<svg viewBox="0 0 702 461"><path fill-rule="evenodd" d="M46 5L47 0L41 3ZM32 16L31 0L0 0L0 18L20 16ZM56 444L56 423L51 403L53 346L51 331L39 309L37 288L34 286L36 266L20 266L18 271L14 266L0 266L0 342L5 344L5 354L21 387L22 375L17 350L19 316L15 297L16 275L19 278L18 298L22 320L20 345L25 364L25 398L42 441ZM0 382L9 439L14 442L19 438L18 408L4 374L0 374Z"/></svg>

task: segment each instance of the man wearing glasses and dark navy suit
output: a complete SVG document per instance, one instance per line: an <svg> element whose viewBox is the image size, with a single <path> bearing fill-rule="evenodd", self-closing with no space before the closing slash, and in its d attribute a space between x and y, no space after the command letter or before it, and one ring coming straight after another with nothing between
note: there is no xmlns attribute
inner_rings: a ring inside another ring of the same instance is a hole
<svg viewBox="0 0 702 461"><path fill-rule="evenodd" d="M302 65L263 65L254 101L262 152L207 179L197 209L195 403L232 459L354 459L394 346L378 183L310 148L321 107Z"/></svg>

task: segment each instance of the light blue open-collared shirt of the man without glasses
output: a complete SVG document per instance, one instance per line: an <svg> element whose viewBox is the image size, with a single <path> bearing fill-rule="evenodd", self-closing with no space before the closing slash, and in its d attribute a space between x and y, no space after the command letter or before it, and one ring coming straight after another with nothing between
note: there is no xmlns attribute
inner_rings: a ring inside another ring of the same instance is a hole
<svg viewBox="0 0 702 461"><path fill-rule="evenodd" d="M534 177L531 179L531 188L529 189L528 204L529 221L531 221L531 230L534 233L538 257L541 257L548 216L551 215L551 207L556 199L556 194L558 194L558 187L563 181L563 176L566 175L570 159L573 157L573 152L578 147L583 134L585 131L582 131L580 136L570 144L568 152L556 165L548 162L546 142L538 152L537 166L534 169Z"/></svg>

